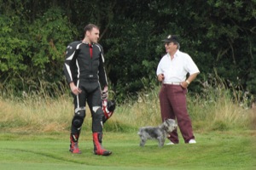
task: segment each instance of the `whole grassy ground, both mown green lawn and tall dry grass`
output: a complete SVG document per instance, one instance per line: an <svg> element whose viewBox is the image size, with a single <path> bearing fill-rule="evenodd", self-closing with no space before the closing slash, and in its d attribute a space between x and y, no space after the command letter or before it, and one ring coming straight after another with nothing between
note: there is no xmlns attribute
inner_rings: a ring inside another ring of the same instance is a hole
<svg viewBox="0 0 256 170"><path fill-rule="evenodd" d="M103 130L103 146L113 151L111 156L93 155L88 110L79 139L82 154L68 151L73 117L70 95L57 99L0 96L0 170L256 169L256 108L234 102L223 88L188 96L197 144L183 144L180 138L180 144L159 148L156 141L148 141L140 147L138 127L161 122L158 92L156 88L138 94L137 101L117 106Z"/></svg>

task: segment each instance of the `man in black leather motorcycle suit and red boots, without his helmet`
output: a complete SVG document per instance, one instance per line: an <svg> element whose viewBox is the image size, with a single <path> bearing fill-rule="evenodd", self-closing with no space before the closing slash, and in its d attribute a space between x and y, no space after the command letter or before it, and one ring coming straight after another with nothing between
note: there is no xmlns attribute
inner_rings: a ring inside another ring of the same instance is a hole
<svg viewBox="0 0 256 170"><path fill-rule="evenodd" d="M99 28L89 24L84 27L84 39L67 46L63 70L73 94L74 104L70 151L81 153L79 134L84 122L87 102L92 116L94 154L109 156L112 152L102 147L102 125L103 121L106 122L102 99L108 99L108 80L104 69L103 49L97 43L98 38Z"/></svg>

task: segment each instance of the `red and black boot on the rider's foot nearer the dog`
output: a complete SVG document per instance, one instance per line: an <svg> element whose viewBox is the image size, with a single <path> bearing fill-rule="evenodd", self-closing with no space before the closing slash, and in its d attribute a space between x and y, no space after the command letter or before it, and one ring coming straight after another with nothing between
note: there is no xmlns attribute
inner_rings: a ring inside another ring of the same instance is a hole
<svg viewBox="0 0 256 170"><path fill-rule="evenodd" d="M92 133L93 144L94 144L94 154L99 156L109 156L112 151L105 150L102 147L102 133Z"/></svg>

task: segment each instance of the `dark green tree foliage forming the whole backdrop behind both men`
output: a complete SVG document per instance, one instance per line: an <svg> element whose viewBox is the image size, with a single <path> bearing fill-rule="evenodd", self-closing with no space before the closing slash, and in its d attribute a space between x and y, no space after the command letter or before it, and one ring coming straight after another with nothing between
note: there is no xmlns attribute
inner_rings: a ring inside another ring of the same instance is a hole
<svg viewBox="0 0 256 170"><path fill-rule="evenodd" d="M65 48L95 23L119 99L158 83L160 40L168 34L180 37L181 50L199 66L197 82L217 72L256 94L255 0L0 0L0 11L1 90L38 90L46 82L50 93L56 82L65 84Z"/></svg>

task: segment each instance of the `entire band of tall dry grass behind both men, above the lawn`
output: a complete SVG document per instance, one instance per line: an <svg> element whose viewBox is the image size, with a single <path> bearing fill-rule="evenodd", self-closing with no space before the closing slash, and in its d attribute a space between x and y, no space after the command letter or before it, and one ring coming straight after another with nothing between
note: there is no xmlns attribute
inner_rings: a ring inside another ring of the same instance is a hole
<svg viewBox="0 0 256 170"><path fill-rule="evenodd" d="M138 93L138 100L117 105L105 124L106 131L125 132L141 126L157 126L161 122L160 87ZM231 93L232 94L232 93ZM196 131L255 129L256 113L234 102L225 88L207 88L204 94L188 94L188 110ZM0 97L0 127L6 131L67 131L73 117L73 99L62 94L53 99L44 95L26 94L15 99ZM90 111L86 108L85 129L91 127Z"/></svg>

